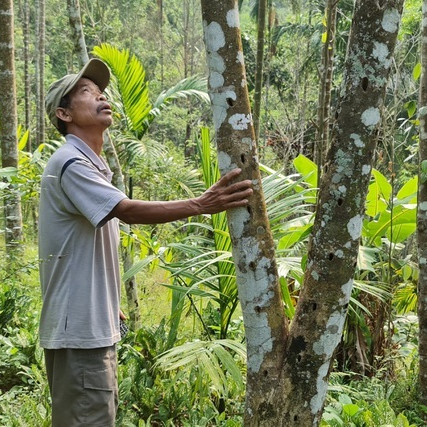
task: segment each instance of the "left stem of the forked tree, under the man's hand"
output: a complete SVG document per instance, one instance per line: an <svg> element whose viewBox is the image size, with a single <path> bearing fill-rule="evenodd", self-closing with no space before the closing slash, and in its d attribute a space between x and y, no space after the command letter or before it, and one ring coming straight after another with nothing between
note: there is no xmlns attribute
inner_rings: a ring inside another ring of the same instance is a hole
<svg viewBox="0 0 427 427"><path fill-rule="evenodd" d="M245 423L259 425L278 383L287 321L261 188L237 0L202 0L202 16L218 165L221 173L239 167L242 179L254 183L249 206L227 215L246 332Z"/></svg>

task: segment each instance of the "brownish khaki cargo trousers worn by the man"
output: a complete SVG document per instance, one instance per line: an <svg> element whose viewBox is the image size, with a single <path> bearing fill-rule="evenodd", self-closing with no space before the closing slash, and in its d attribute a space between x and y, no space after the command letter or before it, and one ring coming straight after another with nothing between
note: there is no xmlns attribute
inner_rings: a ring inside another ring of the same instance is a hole
<svg viewBox="0 0 427 427"><path fill-rule="evenodd" d="M118 406L115 345L45 349L53 427L113 427Z"/></svg>

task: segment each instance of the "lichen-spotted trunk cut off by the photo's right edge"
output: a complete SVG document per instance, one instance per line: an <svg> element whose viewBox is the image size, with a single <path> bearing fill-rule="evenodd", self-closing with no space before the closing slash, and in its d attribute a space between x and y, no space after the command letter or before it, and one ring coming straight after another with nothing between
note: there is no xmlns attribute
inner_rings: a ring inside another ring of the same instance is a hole
<svg viewBox="0 0 427 427"><path fill-rule="evenodd" d="M423 0L420 84L420 176L418 189L418 319L420 402L427 406L427 0ZM424 412L427 423L427 413Z"/></svg>

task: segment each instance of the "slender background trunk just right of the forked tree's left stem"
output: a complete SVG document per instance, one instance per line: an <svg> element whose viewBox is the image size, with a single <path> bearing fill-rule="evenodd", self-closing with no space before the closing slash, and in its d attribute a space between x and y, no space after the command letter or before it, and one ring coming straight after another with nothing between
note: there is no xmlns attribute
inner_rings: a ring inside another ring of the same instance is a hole
<svg viewBox="0 0 427 427"><path fill-rule="evenodd" d="M265 33L265 16L267 9L267 0L258 2L258 33L257 33L257 56L255 72L255 94L254 94L254 131L255 140L259 140L259 125L261 115L262 99L262 77L264 72L264 33Z"/></svg>

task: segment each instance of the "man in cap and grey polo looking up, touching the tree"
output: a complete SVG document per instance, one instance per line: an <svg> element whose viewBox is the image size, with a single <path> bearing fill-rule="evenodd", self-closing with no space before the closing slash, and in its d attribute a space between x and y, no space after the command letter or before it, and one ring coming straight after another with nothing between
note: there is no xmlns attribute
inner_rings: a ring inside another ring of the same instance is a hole
<svg viewBox="0 0 427 427"><path fill-rule="evenodd" d="M53 426L113 426L115 344L120 339L118 222L153 224L247 204L251 182L229 172L200 197L130 200L111 185L100 157L112 111L103 94L108 67L92 59L51 85L46 110L66 143L43 173L39 253L45 349Z"/></svg>

